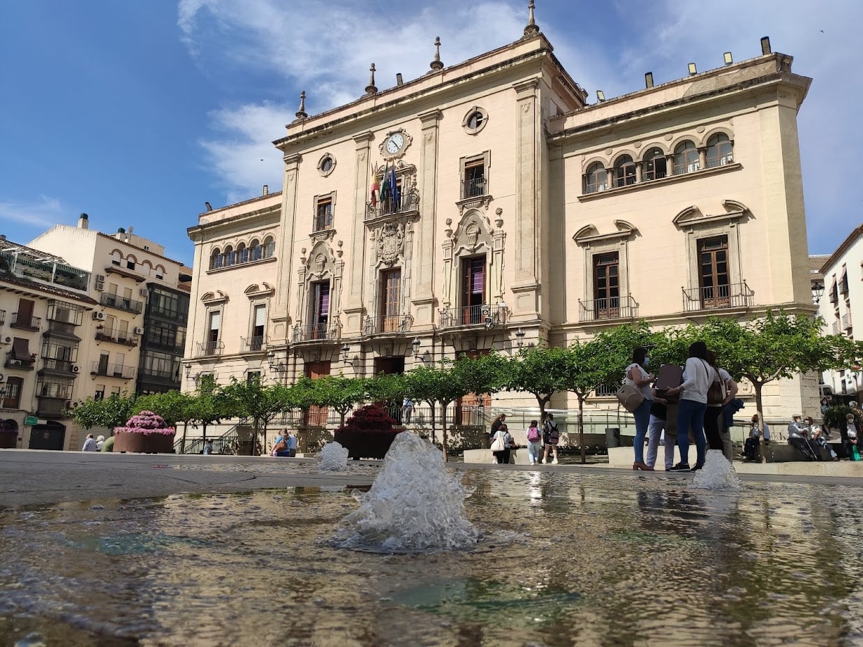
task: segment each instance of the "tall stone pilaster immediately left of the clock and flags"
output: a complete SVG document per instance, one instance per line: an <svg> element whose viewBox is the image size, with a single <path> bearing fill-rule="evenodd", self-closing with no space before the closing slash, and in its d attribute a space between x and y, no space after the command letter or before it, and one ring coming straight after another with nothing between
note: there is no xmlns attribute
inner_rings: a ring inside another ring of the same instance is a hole
<svg viewBox="0 0 863 647"><path fill-rule="evenodd" d="M363 310L363 264L365 262L366 249L366 198L368 197L371 184L371 173L369 170L369 147L374 135L371 132L361 133L354 136L356 142L356 173L354 186L354 217L350 227L350 256L348 265L350 271L347 276L348 292L344 299L344 330L343 335L355 336L362 332L362 310Z"/></svg>

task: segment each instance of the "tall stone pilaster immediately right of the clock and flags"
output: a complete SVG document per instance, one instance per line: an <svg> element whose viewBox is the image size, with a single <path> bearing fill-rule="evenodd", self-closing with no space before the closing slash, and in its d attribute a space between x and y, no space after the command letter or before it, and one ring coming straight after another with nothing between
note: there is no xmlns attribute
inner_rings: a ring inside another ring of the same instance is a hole
<svg viewBox="0 0 863 647"><path fill-rule="evenodd" d="M417 184L419 185L419 223L417 247L413 251L411 280L413 290L413 326L415 330L430 330L434 324L434 254L435 223L438 217L438 122L443 113L429 110L419 114L422 127L422 148ZM412 241L413 248L413 241Z"/></svg>

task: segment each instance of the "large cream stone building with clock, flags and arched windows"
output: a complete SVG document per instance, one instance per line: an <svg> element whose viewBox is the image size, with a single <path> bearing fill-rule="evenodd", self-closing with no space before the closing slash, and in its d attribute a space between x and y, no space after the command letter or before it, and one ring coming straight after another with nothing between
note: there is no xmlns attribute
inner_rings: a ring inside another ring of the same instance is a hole
<svg viewBox="0 0 863 647"><path fill-rule="evenodd" d="M763 41L756 58L589 104L531 20L386 91L373 71L351 104L308 116L301 103L274 142L282 191L189 229L184 388L398 372L640 318L811 313L809 83ZM767 410L809 409L816 384L772 386Z"/></svg>

